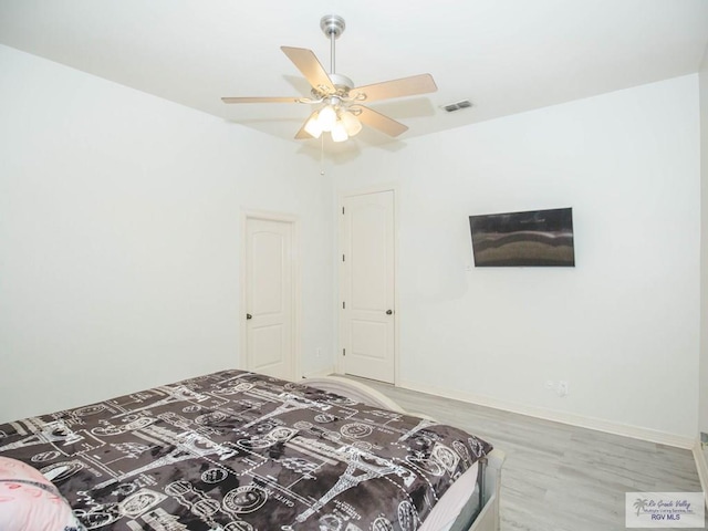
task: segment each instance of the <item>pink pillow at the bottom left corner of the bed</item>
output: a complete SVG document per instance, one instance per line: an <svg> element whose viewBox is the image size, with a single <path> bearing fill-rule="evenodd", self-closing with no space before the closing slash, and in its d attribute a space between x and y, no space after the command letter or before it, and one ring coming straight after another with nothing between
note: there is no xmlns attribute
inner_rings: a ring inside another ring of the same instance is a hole
<svg viewBox="0 0 708 531"><path fill-rule="evenodd" d="M0 529L79 531L84 528L56 487L39 470L0 457Z"/></svg>

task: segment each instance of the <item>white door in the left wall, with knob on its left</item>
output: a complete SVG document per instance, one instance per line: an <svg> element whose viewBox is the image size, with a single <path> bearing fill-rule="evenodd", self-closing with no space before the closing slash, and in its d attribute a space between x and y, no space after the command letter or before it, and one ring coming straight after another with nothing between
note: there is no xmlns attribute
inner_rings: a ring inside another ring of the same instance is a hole
<svg viewBox="0 0 708 531"><path fill-rule="evenodd" d="M294 379L291 222L246 219L247 369Z"/></svg>

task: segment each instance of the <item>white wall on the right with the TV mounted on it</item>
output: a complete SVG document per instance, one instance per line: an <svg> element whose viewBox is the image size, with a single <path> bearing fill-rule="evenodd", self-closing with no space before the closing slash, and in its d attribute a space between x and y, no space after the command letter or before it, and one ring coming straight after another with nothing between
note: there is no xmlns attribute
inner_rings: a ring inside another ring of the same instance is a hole
<svg viewBox="0 0 708 531"><path fill-rule="evenodd" d="M693 440L698 122L689 75L342 166L340 191L399 185L399 383ZM575 268L466 271L469 215L569 206ZM569 381L570 395L548 379Z"/></svg>

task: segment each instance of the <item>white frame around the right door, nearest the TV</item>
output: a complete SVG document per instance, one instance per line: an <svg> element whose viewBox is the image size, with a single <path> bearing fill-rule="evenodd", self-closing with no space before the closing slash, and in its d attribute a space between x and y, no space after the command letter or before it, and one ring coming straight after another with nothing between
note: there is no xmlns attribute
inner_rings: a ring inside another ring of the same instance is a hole
<svg viewBox="0 0 708 531"><path fill-rule="evenodd" d="M344 208L344 200L348 197L364 196L367 194L378 194L382 191L393 191L394 194L394 386L398 386L399 382L399 353L400 353L400 305L398 304L398 209L399 209L399 187L397 183L387 183L381 185L367 186L364 188L355 188L352 190L341 190L339 194L339 202L336 209L337 216L337 355L334 368L336 374L345 374L344 356L342 352L344 350L344 310L342 309L342 300L344 298L344 267L342 264L342 254L344 254L344 216L342 215L342 208Z"/></svg>

